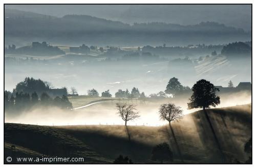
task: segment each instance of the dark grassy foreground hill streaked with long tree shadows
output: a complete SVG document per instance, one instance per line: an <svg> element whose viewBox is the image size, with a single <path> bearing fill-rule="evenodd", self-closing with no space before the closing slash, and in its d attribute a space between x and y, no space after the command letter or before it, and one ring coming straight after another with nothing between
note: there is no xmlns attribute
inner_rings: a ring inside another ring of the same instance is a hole
<svg viewBox="0 0 256 168"><path fill-rule="evenodd" d="M129 156L134 163L156 163L151 161L152 148L167 142L174 152L173 163L245 162L249 157L244 152L244 144L251 137L251 105L207 109L207 113L218 142L203 110L172 123L181 156L167 125L128 126L129 141L124 126L120 125L37 126L5 123L5 158L83 157L84 163L112 163L122 154ZM11 149L13 145L15 149Z"/></svg>

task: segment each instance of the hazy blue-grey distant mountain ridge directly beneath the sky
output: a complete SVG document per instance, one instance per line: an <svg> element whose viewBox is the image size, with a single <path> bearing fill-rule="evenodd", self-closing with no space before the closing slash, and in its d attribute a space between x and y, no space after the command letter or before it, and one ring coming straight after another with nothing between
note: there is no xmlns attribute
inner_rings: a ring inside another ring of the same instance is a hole
<svg viewBox="0 0 256 168"><path fill-rule="evenodd" d="M75 26L74 26L75 25ZM218 22L180 25L163 22L134 23L89 15L51 17L5 9L5 44L26 45L47 41L58 45L162 45L224 44L249 41L251 32Z"/></svg>

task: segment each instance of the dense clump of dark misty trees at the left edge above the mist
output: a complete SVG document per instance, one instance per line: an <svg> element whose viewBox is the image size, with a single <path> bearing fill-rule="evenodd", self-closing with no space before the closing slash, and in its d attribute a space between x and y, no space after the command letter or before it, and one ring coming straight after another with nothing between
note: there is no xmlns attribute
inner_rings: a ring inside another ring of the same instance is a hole
<svg viewBox="0 0 256 168"><path fill-rule="evenodd" d="M17 83L12 92L5 91L5 110L28 110L34 106L57 106L63 109L72 109L72 103L66 96L67 89L62 96L51 97L51 84L41 79L26 77L24 81Z"/></svg>

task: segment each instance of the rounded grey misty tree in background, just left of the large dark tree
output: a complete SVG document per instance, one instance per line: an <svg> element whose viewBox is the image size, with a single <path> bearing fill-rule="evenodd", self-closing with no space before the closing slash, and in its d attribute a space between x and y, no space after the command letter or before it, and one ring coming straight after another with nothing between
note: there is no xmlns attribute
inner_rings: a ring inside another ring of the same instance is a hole
<svg viewBox="0 0 256 168"><path fill-rule="evenodd" d="M183 89L183 86L181 85L179 80L177 78L173 77L173 78L170 78L170 80L168 81L168 84L167 84L164 92L166 94L172 94L173 97L175 97L175 95L178 92L180 92L182 89Z"/></svg>

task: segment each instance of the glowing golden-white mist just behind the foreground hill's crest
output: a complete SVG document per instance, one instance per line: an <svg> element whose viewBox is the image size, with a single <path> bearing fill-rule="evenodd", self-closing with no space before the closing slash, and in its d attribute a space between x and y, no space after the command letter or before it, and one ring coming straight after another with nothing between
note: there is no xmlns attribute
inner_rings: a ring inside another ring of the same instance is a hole
<svg viewBox="0 0 256 168"><path fill-rule="evenodd" d="M128 125L160 126L166 124L165 121L160 120L158 114L159 107L162 103L175 103L182 108L185 115L200 110L188 110L186 104L189 102L188 98L189 96L182 98L150 99L145 102L140 100L111 100L77 110L63 110L57 107L40 107L24 111L22 114L13 115L12 113L6 113L5 122L34 125L123 125L124 122L118 115L115 103L126 102L137 105L136 108L140 113L140 118L128 122ZM75 104L75 99L70 100ZM251 94L249 92L222 94L220 95L220 100L221 104L216 108L249 104L251 103ZM74 107L78 106L80 105Z"/></svg>

